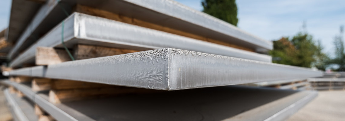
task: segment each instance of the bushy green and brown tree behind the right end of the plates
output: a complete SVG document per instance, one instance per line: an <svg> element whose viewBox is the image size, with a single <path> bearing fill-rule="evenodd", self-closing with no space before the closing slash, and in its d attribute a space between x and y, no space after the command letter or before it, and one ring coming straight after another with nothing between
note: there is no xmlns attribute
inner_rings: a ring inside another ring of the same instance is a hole
<svg viewBox="0 0 345 121"><path fill-rule="evenodd" d="M274 49L270 55L274 58L274 63L294 65L298 67L317 67L324 70L327 55L322 53L320 43L315 43L313 37L308 33L299 32L292 38L283 37L273 41Z"/></svg>

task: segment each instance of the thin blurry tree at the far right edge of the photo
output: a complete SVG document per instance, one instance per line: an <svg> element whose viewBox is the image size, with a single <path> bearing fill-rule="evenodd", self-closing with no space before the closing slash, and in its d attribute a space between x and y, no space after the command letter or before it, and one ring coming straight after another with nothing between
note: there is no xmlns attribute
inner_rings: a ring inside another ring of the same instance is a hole
<svg viewBox="0 0 345 121"><path fill-rule="evenodd" d="M335 58L329 61L329 64L337 65L335 71L345 71L345 49L343 41L343 27L341 26L340 34L334 38Z"/></svg>

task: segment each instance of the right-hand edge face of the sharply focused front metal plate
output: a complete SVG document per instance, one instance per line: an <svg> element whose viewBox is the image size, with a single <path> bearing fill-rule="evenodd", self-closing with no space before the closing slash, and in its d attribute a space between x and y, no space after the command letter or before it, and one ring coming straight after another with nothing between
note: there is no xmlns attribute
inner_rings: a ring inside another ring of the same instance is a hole
<svg viewBox="0 0 345 121"><path fill-rule="evenodd" d="M319 77L321 71L186 50L169 49L169 89L189 89Z"/></svg>

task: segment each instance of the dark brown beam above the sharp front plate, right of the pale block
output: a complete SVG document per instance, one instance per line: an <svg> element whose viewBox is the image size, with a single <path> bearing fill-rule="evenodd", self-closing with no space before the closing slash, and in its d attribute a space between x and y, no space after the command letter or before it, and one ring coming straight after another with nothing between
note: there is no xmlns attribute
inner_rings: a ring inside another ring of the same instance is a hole
<svg viewBox="0 0 345 121"><path fill-rule="evenodd" d="M108 48L108 47L101 47L101 46L90 46L90 45L78 44L74 48L74 58L76 60L80 60L80 59L89 59L89 58L97 58L97 57L105 57L105 56L114 56L118 54L126 54L126 53L132 53L132 52L139 52L139 51L130 50L130 49Z"/></svg>

